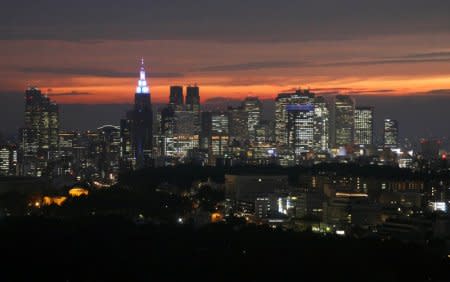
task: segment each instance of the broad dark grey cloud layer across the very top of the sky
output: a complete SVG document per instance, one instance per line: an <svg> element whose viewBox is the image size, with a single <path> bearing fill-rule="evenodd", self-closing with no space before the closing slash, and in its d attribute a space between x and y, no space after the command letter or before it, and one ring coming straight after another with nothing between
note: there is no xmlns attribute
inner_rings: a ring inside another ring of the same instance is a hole
<svg viewBox="0 0 450 282"><path fill-rule="evenodd" d="M0 39L4 40L301 42L448 33L450 10L450 1L423 0L4 2L0 10Z"/></svg>

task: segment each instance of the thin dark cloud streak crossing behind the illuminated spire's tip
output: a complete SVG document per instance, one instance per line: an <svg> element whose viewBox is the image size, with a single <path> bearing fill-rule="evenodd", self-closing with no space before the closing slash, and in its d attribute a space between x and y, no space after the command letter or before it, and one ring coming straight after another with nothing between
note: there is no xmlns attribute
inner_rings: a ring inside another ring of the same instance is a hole
<svg viewBox="0 0 450 282"><path fill-rule="evenodd" d="M74 75L74 76L98 76L98 77L113 77L113 78L129 78L136 77L137 72L123 72L104 69L91 69L91 68L77 68L77 67L25 67L19 68L19 72L23 73L46 73L46 74L58 74L58 75ZM156 78L175 78L183 77L182 73L176 72L156 72L149 73L149 76Z"/></svg>

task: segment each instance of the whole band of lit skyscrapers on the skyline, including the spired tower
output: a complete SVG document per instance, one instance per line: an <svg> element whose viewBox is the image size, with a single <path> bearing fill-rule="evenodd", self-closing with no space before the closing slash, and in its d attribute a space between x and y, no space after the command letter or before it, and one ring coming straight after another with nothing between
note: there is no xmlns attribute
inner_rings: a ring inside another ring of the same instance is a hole
<svg viewBox="0 0 450 282"><path fill-rule="evenodd" d="M142 60L134 107L119 126L62 131L58 106L32 87L25 92L19 144L0 148L0 171L114 180L121 170L180 163L294 166L361 156L379 163L392 152L396 164L411 163L412 155L398 149L398 122L385 119L384 142L376 144L374 109L349 96L280 93L274 118L263 118L262 106L246 97L239 106L204 111L199 87L189 85L171 86L167 105L154 111Z"/></svg>

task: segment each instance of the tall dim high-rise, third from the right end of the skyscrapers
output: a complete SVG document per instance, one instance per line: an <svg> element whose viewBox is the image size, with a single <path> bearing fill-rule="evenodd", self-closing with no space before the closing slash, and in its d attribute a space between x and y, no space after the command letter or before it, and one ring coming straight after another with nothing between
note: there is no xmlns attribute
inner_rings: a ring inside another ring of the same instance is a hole
<svg viewBox="0 0 450 282"><path fill-rule="evenodd" d="M336 96L334 108L335 145L353 145L355 103L350 96Z"/></svg>

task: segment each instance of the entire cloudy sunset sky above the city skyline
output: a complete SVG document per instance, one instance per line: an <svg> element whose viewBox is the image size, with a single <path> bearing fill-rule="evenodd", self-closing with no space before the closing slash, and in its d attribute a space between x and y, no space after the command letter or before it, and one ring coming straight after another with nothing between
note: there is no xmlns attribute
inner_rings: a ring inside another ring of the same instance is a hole
<svg viewBox="0 0 450 282"><path fill-rule="evenodd" d="M0 91L127 103L144 57L155 102L193 83L203 101L296 87L448 95L449 11L446 0L5 0Z"/></svg>

